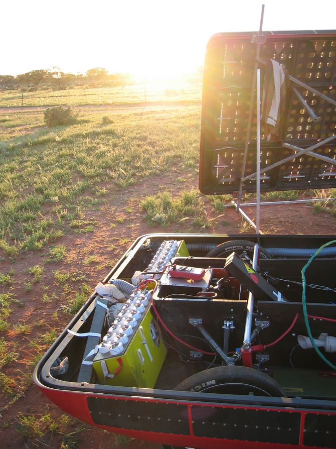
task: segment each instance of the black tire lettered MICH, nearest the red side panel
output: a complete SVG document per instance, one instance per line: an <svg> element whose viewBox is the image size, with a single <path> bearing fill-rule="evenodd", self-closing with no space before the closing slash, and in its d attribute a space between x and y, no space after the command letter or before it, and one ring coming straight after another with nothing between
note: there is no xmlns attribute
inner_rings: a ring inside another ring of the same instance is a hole
<svg viewBox="0 0 336 449"><path fill-rule="evenodd" d="M211 382L211 384L205 385L207 382ZM211 391L211 388L216 385L231 383L242 383L262 389L267 393L266 396L286 397L283 388L274 379L254 368L244 366L220 366L201 371L185 379L174 390L195 391L194 389L197 387L197 392L201 393L207 390Z"/></svg>

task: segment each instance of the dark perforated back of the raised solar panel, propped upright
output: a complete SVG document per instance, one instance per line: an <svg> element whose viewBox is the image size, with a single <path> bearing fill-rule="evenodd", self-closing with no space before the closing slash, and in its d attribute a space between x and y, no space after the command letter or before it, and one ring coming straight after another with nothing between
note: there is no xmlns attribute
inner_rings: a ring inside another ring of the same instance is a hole
<svg viewBox="0 0 336 449"><path fill-rule="evenodd" d="M281 63L288 74L336 100L336 31L265 32L260 58ZM250 97L256 59L252 33L217 34L207 47L204 66L200 190L205 194L233 193L242 175L256 172L257 115L254 102L246 169L242 174ZM264 65L261 69L261 88ZM308 103L317 121L307 113L293 87ZM335 134L336 106L309 90L289 83L279 139L270 142L261 128L261 168ZM328 188L336 186L335 141L314 150L330 162L304 154L269 170L261 171L261 191ZM246 180L246 192L256 191L256 180Z"/></svg>

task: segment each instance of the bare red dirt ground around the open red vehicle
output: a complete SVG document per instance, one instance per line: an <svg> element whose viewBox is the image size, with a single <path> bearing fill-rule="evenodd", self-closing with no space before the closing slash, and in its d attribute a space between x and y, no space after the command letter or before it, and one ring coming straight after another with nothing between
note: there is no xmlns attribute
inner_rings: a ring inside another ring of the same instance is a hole
<svg viewBox="0 0 336 449"><path fill-rule="evenodd" d="M195 175L193 175L187 183L175 181L173 176L152 178L145 183L138 183L125 189L116 189L106 186L109 189L105 195L106 202L100 206L99 211L87 210L84 219L95 218L96 225L93 233L76 234L69 232L65 237L59 239L56 245L66 245L68 256L62 261L55 263L45 263L48 248L31 253L24 253L17 257L15 263L8 260L5 254L0 254L6 260L0 262L1 272L6 273L10 268L15 270L16 282L11 287L2 287L4 292L11 291L15 298L24 303L24 307L13 304L14 313L10 315L9 322L11 327L13 324L21 322L31 324L32 332L29 334L15 334L15 332L2 332L0 338L5 338L10 345L16 344L16 352L19 353L18 361L8 364L2 371L7 376L14 378L18 384L27 384L25 373L29 371L35 350L29 346L29 343L37 338L38 334L47 332L56 328L59 333L70 321L71 316L66 315L61 310L61 303L65 300L62 286L55 284L54 270L70 271L84 275L85 281L77 280L71 283L70 289L76 291L83 282L88 284L92 290L97 282L101 281L109 271L109 266L122 256L130 244L140 235L154 232L165 232L160 227L149 227L143 220L143 212L139 211L137 202L141 196L155 193L159 190L168 189L173 193L186 187L197 187ZM200 195L202 196L202 195ZM124 206L128 200L133 198L133 211L127 212ZM239 234L242 229L242 219L233 208L227 208L222 213L211 211L209 198L204 197L208 210L208 221L211 227L206 229L207 233L218 234ZM253 217L254 210L252 207L245 208L245 212ZM115 222L115 217L123 217L122 223L117 223L115 228L111 228L109 223ZM333 235L335 234L336 217L331 216L326 211L313 213L311 203L264 206L261 207L261 229L267 234L310 234L310 235ZM191 223L184 221L183 224L176 223L169 228L169 232L190 232ZM195 229L194 232L205 232L204 229ZM253 229L245 230L246 233L254 234ZM114 247L111 249L110 245ZM83 264L88 256L95 255L98 262ZM35 265L44 264L45 272L42 279L37 284L32 284L30 291L25 291L25 284L28 280L32 280L32 276L28 274L28 268ZM102 267L102 265L105 266ZM44 293L52 295L55 293L60 299L51 299L50 302L41 300ZM55 317L57 312L58 319ZM37 323L39 325L37 325ZM29 376L30 378L30 376ZM18 432L18 413L24 415L35 415L40 417L46 413L50 413L52 417L59 422L62 411L51 403L42 393L40 393L34 384L31 384L24 395L9 404L9 396L0 394L0 447L4 449L18 449L21 447L52 447L58 449L64 435L48 432L43 437L24 438L22 433ZM65 433L69 434L79 428L79 423L73 423L67 426ZM159 446L141 442L128 440L123 437L116 436L105 432L98 428L87 426L84 430L75 433L78 437L76 445L68 442L69 449L77 447L78 449L105 449L106 447L123 449L123 448L148 448L157 449ZM63 446L64 448L67 446Z"/></svg>

